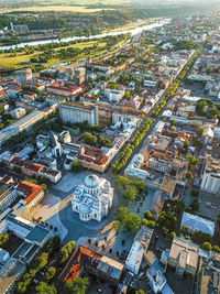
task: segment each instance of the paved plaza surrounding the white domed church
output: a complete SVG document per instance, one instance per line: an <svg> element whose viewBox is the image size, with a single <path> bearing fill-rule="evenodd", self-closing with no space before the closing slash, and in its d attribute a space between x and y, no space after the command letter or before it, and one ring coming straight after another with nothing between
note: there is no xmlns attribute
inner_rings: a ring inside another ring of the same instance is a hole
<svg viewBox="0 0 220 294"><path fill-rule="evenodd" d="M53 229L56 228L63 243L75 240L77 246L87 246L101 254L122 261L130 251L135 232L128 232L123 227L117 232L113 227L117 208L128 206L120 192L114 188L112 207L108 216L103 217L100 222L97 220L82 221L79 219L79 215L73 211L70 203L74 197L73 192L77 185L85 182L89 174L96 173L91 171L65 172L62 179L45 194L43 200L32 210L29 219L38 219L48 224ZM97 175L102 177L102 175ZM108 173L103 177L108 178L113 186L114 179ZM152 206L154 193L154 190L147 189L145 199L138 197L132 204L129 204L129 208L143 218L143 213Z"/></svg>

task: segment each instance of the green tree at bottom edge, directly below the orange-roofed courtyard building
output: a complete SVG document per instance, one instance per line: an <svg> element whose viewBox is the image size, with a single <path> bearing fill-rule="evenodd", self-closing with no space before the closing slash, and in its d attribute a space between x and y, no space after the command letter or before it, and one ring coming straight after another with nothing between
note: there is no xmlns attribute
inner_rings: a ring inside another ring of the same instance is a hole
<svg viewBox="0 0 220 294"><path fill-rule="evenodd" d="M78 276L76 280L72 282L67 282L64 286L64 294L85 294L89 280L88 277Z"/></svg>

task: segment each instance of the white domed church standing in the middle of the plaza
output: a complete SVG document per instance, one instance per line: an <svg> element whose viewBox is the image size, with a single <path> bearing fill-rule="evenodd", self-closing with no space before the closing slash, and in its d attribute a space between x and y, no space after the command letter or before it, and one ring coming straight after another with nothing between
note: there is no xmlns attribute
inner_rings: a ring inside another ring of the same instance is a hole
<svg viewBox="0 0 220 294"><path fill-rule="evenodd" d="M85 183L78 185L73 194L73 210L79 214L84 221L101 220L112 206L113 188L106 178L88 175Z"/></svg>

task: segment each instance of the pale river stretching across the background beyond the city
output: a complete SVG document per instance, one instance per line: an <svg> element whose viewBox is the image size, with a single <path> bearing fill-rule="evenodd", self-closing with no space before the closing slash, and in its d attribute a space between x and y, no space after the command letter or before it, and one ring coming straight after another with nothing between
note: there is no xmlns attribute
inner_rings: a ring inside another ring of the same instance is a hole
<svg viewBox="0 0 220 294"><path fill-rule="evenodd" d="M75 40L87 40L87 39L97 39L97 37L105 37L108 35L120 35L120 34L127 34L131 33L131 35L139 34L143 31L150 31L154 28L160 28L163 26L164 24L168 23L170 19L164 19L161 20L160 22L155 22L152 24L143 25L143 26L138 26L131 30L123 30L123 31L118 31L118 32L108 32L108 33L102 33L102 34L97 34L97 35L90 35L90 36L69 36L69 37L64 37L62 40L54 39L54 40L42 40L42 41L30 41L30 42L24 42L20 43L16 45L10 45L10 46L0 46L0 50L10 50L10 48L15 48L15 47L25 47L25 46L35 46L35 45L41 45L41 44L48 44L48 43L59 43L59 42L70 42Z"/></svg>

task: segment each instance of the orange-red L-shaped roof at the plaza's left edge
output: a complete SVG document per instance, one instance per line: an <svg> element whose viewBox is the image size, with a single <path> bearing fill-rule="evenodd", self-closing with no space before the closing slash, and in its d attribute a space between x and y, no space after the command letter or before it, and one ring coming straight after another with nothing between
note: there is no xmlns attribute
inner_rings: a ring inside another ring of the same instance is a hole
<svg viewBox="0 0 220 294"><path fill-rule="evenodd" d="M29 181L23 181L19 184L18 190L21 190L26 196L24 200L29 204L43 190L43 188Z"/></svg>

